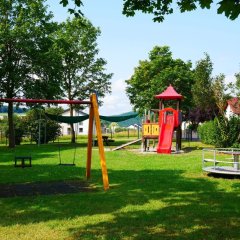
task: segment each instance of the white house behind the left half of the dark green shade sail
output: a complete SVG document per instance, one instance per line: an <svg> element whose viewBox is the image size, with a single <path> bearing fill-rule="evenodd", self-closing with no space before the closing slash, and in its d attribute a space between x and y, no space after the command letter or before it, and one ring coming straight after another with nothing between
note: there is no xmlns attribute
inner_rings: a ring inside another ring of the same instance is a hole
<svg viewBox="0 0 240 240"><path fill-rule="evenodd" d="M84 116L86 115L86 113L84 113L83 111L80 110L73 110L73 116ZM70 116L70 109L66 109L62 116ZM74 130L75 130L75 134L76 135L87 135L88 134L88 119L83 121L83 122L79 122L79 123L74 123ZM70 124L67 123L60 123L61 128L62 128L62 135L71 135L71 127Z"/></svg>

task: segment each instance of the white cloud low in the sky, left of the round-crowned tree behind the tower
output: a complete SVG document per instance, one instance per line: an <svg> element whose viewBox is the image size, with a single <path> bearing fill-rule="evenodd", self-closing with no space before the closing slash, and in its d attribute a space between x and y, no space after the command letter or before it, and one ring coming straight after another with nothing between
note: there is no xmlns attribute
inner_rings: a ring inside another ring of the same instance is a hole
<svg viewBox="0 0 240 240"><path fill-rule="evenodd" d="M126 83L124 80L117 80L112 83L112 93L103 99L103 105L99 109L101 115L110 116L132 111L125 89Z"/></svg>

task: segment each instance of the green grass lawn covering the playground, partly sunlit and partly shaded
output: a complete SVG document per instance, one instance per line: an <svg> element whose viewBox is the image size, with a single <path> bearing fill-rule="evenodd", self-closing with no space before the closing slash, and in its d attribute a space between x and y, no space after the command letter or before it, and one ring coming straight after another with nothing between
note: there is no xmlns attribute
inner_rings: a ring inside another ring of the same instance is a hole
<svg viewBox="0 0 240 240"><path fill-rule="evenodd" d="M116 140L114 145L128 141ZM139 145L132 148L136 149ZM75 194L0 198L1 240L239 239L240 179L202 172L202 145L183 143L183 154L106 151L110 189L102 188L98 150L93 150L96 190ZM62 144L71 162L74 147ZM1 184L84 179L86 139L76 166L58 166L57 144L0 146ZM14 168L14 154L33 157L32 168Z"/></svg>

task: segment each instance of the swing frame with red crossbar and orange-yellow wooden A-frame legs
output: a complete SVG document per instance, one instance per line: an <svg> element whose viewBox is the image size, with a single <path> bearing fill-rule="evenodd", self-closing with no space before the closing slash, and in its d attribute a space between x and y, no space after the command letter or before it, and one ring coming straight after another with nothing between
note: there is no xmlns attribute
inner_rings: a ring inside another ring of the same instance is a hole
<svg viewBox="0 0 240 240"><path fill-rule="evenodd" d="M90 96L90 101L81 100L47 100L47 99L20 99L20 98L2 98L0 102L22 102L22 103L47 103L47 104L79 104L90 105L89 108L89 128L88 128L88 145L87 145L87 161L86 161L86 178L91 176L91 162L92 162L92 138L93 138L93 124L95 120L96 133L98 140L99 158L102 170L102 180L104 190L109 189L108 173L106 166L106 158L104 153L104 146L102 140L101 122L98 111L98 103L96 94Z"/></svg>

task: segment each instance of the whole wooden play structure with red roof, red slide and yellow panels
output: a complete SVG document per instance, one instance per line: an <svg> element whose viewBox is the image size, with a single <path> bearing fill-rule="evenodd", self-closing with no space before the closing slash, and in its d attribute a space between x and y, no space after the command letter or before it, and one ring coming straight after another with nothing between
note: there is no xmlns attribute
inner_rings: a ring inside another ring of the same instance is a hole
<svg viewBox="0 0 240 240"><path fill-rule="evenodd" d="M158 139L157 153L170 154L174 131L176 131L176 151L181 149L180 103L183 96L170 85L155 98L160 100L159 109L152 109L148 114L145 114L142 125L143 150L146 151L149 148L149 140L153 140L155 146L155 139ZM175 103L176 109L172 107L164 108L167 101L171 101L171 106ZM153 112L153 116L151 116L151 112Z"/></svg>

